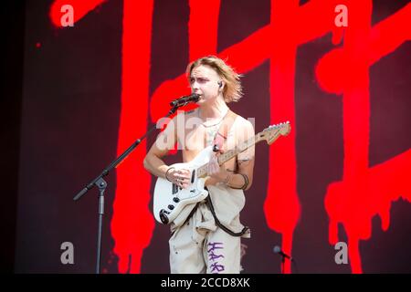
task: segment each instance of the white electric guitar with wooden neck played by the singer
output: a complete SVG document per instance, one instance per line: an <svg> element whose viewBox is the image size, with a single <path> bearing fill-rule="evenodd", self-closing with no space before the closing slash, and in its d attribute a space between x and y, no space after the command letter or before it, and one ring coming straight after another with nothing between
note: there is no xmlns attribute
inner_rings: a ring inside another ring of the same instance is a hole
<svg viewBox="0 0 411 292"><path fill-rule="evenodd" d="M280 135L285 136L290 133L290 122L269 126L260 131L256 136L251 137L238 145L236 149L227 151L218 157L218 164L229 161L242 151L257 144L259 141L267 141L271 145ZM155 220L163 224L174 221L184 206L190 203L197 203L205 199L208 192L204 188L205 179L208 177L206 168L213 154L212 146L206 147L195 156L195 159L187 163L175 163L175 169L186 169L191 172L191 182L185 189L180 188L175 183L171 183L163 178L158 178L154 188L153 212Z"/></svg>

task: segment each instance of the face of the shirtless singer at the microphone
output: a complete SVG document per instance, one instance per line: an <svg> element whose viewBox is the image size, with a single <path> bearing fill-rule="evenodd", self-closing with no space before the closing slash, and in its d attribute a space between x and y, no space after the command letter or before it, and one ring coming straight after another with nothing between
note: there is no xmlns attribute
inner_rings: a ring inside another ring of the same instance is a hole
<svg viewBox="0 0 411 292"><path fill-rule="evenodd" d="M198 105L216 99L220 92L218 81L220 81L218 74L209 66L200 65L191 71L190 86L193 93L200 95Z"/></svg>

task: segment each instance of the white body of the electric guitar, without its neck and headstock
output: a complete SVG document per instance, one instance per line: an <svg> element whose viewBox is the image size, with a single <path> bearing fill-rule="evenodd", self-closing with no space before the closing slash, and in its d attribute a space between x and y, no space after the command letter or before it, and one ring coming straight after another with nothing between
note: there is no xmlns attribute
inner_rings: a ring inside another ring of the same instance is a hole
<svg viewBox="0 0 411 292"><path fill-rule="evenodd" d="M157 179L153 197L155 220L162 224L170 224L187 204L197 203L205 199L208 195L204 188L205 178L198 178L196 171L210 161L212 153L213 149L209 146L199 152L193 161L171 165L177 170L186 169L191 172L191 181L186 189L181 189L166 179Z"/></svg>

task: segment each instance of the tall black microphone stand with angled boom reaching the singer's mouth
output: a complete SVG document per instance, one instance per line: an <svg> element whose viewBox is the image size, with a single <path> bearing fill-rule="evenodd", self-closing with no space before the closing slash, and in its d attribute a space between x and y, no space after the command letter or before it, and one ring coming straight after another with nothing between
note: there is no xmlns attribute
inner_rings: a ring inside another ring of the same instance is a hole
<svg viewBox="0 0 411 292"><path fill-rule="evenodd" d="M180 107L185 106L188 103L185 102L184 104L174 104L174 107L168 112L168 114L164 118L170 117L176 110ZM100 257L101 257L101 229L102 229L102 217L104 214L104 191L107 188L107 182L104 181L103 177L108 175L109 172L117 165L119 165L156 127L153 125L140 139L137 139L132 143L126 151L124 151L116 160L110 163L98 177L88 183L76 196L73 198L74 201L78 201L85 193L89 192L94 186L99 188L99 227L97 231L97 260L96 260L96 274L100 274Z"/></svg>

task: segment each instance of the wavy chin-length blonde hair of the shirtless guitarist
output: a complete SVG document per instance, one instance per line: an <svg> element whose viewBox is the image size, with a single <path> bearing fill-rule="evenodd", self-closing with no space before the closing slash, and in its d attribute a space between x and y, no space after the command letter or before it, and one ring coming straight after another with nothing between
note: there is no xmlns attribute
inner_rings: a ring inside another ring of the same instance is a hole
<svg viewBox="0 0 411 292"><path fill-rule="evenodd" d="M224 81L225 87L223 89L223 98L229 103L231 101L237 102L243 96L243 89L240 82L240 74L228 66L225 61L216 56L205 56L196 59L187 66L186 75L190 79L191 72L194 68L205 65L216 70L216 73Z"/></svg>

